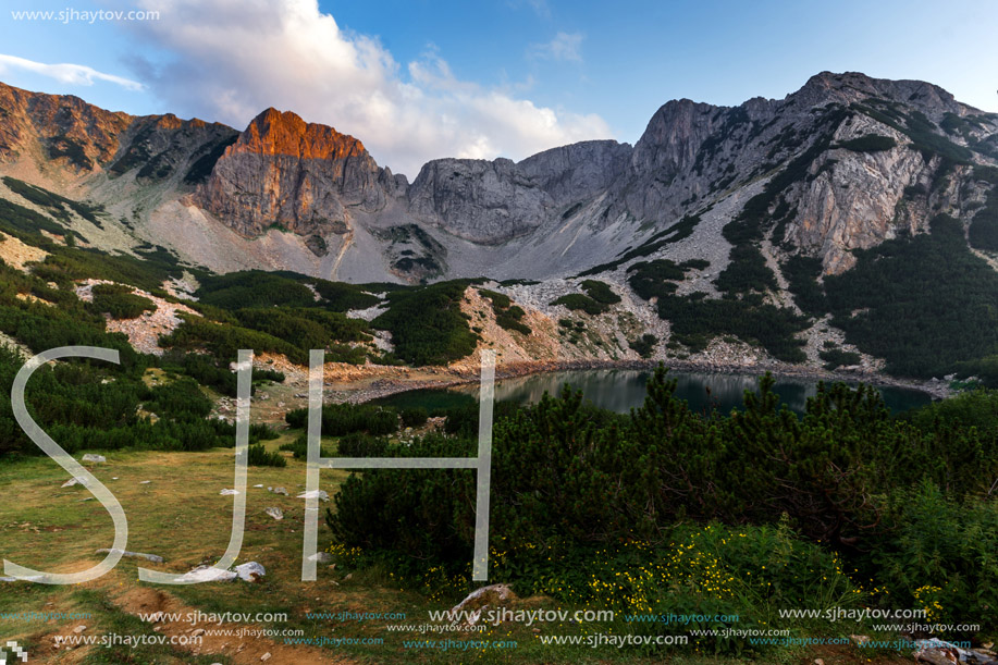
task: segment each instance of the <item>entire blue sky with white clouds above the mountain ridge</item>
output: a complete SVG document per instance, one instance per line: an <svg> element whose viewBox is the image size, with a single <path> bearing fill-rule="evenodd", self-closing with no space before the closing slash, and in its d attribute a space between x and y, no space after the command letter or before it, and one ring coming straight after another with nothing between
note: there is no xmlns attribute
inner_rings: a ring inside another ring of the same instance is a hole
<svg viewBox="0 0 998 665"><path fill-rule="evenodd" d="M67 8L159 20L10 14ZM998 111L995 26L985 0L9 0L0 79L237 127L292 109L411 177L435 157L633 143L669 99L783 98L823 70L925 79ZM64 63L78 66L44 66Z"/></svg>

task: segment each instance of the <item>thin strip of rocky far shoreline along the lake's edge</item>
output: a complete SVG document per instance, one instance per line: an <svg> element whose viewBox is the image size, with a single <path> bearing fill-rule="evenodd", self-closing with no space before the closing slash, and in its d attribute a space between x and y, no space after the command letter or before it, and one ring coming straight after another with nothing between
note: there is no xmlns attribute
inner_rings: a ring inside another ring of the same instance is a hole
<svg viewBox="0 0 998 665"><path fill-rule="evenodd" d="M949 382L946 381L915 381L905 379L896 379L877 372L831 372L810 367L800 367L783 364L760 364L754 366L741 365L723 365L690 362L687 360L539 360L531 362L516 362L500 365L495 368L496 381L503 379L515 379L519 377L529 377L533 374L543 374L558 371L580 371L580 370L599 370L599 369L632 369L632 370L654 370L660 362L663 362L669 370L679 372L695 373L718 373L718 374L741 374L762 377L766 372L776 378L797 379L805 381L825 381L846 383L865 383L877 387L896 387L919 391L926 393L934 399L942 399L951 394ZM442 374L439 379L426 380L407 380L405 374L395 378L384 378L373 384L357 390L340 390L337 396L342 402L361 404L372 399L389 397L398 393L405 393L415 390L427 389L446 389L457 385L467 385L480 381L478 372L447 370L449 374Z"/></svg>

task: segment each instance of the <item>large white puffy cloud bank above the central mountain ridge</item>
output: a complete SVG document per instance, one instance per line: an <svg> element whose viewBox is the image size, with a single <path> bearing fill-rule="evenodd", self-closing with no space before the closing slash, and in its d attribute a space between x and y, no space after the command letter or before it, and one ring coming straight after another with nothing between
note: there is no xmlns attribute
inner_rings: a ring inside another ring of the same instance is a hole
<svg viewBox="0 0 998 665"><path fill-rule="evenodd" d="M132 2L134 7L134 2ZM410 177L439 157L520 159L611 136L593 114L539 107L460 81L435 52L398 63L343 29L317 0L141 0L160 21L127 24L169 59L134 61L169 110L244 126L268 107L361 139Z"/></svg>

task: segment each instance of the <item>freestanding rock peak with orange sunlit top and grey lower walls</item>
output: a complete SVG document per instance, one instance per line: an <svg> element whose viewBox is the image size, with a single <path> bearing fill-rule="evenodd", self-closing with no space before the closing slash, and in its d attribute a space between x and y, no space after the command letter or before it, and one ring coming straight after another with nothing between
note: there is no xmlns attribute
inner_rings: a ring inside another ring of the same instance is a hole
<svg viewBox="0 0 998 665"><path fill-rule="evenodd" d="M273 225L325 236L346 233L355 210L383 208L393 185L353 136L268 109L225 149L197 202L248 237Z"/></svg>

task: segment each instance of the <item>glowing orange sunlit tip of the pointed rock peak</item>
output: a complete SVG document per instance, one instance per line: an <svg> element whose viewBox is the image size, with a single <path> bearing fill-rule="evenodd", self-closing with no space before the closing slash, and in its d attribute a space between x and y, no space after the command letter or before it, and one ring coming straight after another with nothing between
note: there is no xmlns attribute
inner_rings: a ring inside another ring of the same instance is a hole
<svg viewBox="0 0 998 665"><path fill-rule="evenodd" d="M305 122L297 113L273 107L254 118L231 149L323 160L367 155L364 144L353 136L329 125Z"/></svg>

